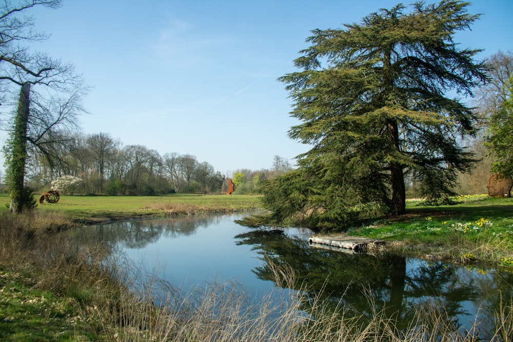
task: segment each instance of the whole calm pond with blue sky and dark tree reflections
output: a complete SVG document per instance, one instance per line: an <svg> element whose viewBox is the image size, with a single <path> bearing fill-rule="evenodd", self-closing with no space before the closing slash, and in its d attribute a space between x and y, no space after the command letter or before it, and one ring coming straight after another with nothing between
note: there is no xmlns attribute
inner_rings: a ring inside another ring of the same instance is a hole
<svg viewBox="0 0 513 342"><path fill-rule="evenodd" d="M463 329L478 317L484 340L487 332L494 331L494 312L501 298L510 303L513 295L513 274L502 269L313 248L308 245L308 230L255 233L233 222L243 216L132 220L72 234L84 243L121 249L140 265L139 270L182 289L236 281L252 295L262 296L277 287L306 286L308 296L322 293L333 307L342 301L355 316L384 310L404 327L417 308L434 303ZM291 267L293 282L276 284L273 265Z"/></svg>

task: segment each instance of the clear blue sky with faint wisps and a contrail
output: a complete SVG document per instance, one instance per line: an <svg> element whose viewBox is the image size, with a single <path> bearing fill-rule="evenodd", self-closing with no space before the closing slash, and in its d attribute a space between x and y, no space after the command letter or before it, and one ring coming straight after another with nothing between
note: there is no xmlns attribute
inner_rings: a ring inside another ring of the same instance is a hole
<svg viewBox="0 0 513 342"><path fill-rule="evenodd" d="M310 31L359 23L398 3L64 0L30 11L34 29L50 35L31 49L73 63L91 87L83 133L191 154L230 176L272 168L275 155L293 165L309 150L287 135L298 122L277 78L299 71L293 60ZM513 1L475 0L469 12L482 15L456 36L461 48L484 49L479 58L513 50Z"/></svg>

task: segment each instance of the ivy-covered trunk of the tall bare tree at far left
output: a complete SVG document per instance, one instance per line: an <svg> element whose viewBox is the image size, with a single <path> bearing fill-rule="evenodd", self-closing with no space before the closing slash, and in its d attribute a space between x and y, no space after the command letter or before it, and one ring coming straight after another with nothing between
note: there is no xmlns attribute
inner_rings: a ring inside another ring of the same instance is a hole
<svg viewBox="0 0 513 342"><path fill-rule="evenodd" d="M21 213L26 205L25 163L27 158L27 124L29 119L30 84L22 86L19 93L18 110L14 120L12 151L9 161L10 210Z"/></svg>

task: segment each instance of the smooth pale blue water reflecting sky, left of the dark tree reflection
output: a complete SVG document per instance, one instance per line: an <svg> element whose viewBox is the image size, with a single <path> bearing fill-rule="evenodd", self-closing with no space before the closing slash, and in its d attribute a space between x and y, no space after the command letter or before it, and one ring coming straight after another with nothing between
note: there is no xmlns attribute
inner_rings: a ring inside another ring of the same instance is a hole
<svg viewBox="0 0 513 342"><path fill-rule="evenodd" d="M255 278L251 269L261 262L250 246L238 246L234 236L246 228L235 224L241 214L205 215L114 222L74 232L83 243L103 243L121 249L146 272L158 272L184 291L208 282L236 280L252 290L274 286ZM155 275L155 274L152 274Z"/></svg>

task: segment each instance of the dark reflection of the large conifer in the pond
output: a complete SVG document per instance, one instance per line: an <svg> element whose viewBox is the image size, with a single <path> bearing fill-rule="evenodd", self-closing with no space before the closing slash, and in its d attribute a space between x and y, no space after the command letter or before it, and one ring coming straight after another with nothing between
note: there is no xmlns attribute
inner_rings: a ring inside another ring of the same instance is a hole
<svg viewBox="0 0 513 342"><path fill-rule="evenodd" d="M418 310L427 310L443 315L447 325L466 329L478 315L480 338L486 339L495 331L501 294L505 303L511 303L513 277L500 270L329 251L312 248L305 239L256 231L236 238L262 256L263 265L253 269L260 279L275 281L275 267L292 267L295 290L312 300L320 296L331 312L343 306L346 317L352 315L365 325L374 313L382 312L403 330L418 317ZM310 312L307 306L302 309Z"/></svg>

